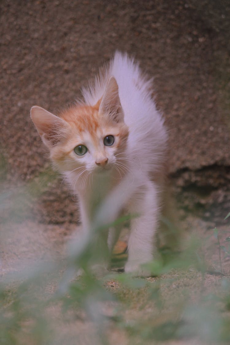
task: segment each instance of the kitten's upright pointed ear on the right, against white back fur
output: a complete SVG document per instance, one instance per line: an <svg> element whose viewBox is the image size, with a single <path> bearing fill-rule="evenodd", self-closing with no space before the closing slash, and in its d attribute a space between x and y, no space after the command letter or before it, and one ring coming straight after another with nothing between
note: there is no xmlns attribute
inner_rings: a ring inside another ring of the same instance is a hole
<svg viewBox="0 0 230 345"><path fill-rule="evenodd" d="M124 120L124 114L118 94L118 85L114 77L110 77L102 96L99 113L108 114L114 121Z"/></svg>

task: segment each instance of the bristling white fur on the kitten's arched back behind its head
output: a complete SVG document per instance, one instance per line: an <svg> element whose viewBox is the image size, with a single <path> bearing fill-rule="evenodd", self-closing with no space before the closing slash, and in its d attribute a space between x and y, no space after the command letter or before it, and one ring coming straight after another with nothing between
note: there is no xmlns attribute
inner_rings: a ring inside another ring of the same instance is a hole
<svg viewBox="0 0 230 345"><path fill-rule="evenodd" d="M127 54L116 52L94 83L82 89L86 104L97 103L111 76L118 83L124 122L129 127L128 157L140 162L142 171L156 171L164 156L167 133L152 99L152 79L147 79Z"/></svg>

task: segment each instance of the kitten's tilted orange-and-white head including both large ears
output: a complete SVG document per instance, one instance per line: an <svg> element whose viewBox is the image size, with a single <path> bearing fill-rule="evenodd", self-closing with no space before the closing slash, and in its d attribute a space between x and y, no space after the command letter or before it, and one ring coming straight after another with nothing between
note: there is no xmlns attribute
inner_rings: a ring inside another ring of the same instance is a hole
<svg viewBox="0 0 230 345"><path fill-rule="evenodd" d="M61 172L103 173L126 149L128 127L113 77L96 105L76 105L59 116L34 106L31 119Z"/></svg>

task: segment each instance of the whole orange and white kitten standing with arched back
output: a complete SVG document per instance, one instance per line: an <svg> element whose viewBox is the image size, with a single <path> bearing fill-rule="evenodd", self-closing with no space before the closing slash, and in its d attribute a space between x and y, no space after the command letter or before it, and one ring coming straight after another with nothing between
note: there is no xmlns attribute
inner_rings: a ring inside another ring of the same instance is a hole
<svg viewBox="0 0 230 345"><path fill-rule="evenodd" d="M167 142L151 84L137 62L116 52L82 90L83 102L59 116L31 108L31 119L54 166L78 195L85 231L101 205L105 223L123 211L138 215L130 221L125 265L125 272L137 276L149 275L142 264L153 259ZM118 230L109 230L110 251L118 235Z"/></svg>

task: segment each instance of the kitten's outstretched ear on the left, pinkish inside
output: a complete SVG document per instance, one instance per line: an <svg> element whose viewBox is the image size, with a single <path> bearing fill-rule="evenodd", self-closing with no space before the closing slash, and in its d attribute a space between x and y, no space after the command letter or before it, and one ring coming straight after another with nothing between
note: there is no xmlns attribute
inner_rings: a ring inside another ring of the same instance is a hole
<svg viewBox="0 0 230 345"><path fill-rule="evenodd" d="M41 107L32 107L30 117L42 141L48 147L57 144L68 128L68 123L65 120Z"/></svg>

